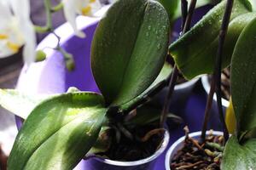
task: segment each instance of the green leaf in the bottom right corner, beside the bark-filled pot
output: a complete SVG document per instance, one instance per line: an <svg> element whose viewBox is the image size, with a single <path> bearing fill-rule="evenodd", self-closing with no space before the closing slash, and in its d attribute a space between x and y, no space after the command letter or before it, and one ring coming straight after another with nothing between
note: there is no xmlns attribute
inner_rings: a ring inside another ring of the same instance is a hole
<svg viewBox="0 0 256 170"><path fill-rule="evenodd" d="M256 139L250 139L241 145L238 143L236 136L232 136L225 145L221 169L256 169Z"/></svg>

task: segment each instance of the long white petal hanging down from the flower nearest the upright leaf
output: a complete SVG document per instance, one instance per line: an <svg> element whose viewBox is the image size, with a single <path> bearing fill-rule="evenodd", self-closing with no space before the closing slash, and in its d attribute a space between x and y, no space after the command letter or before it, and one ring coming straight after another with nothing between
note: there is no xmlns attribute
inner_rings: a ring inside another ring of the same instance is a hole
<svg viewBox="0 0 256 170"><path fill-rule="evenodd" d="M63 10L64 10L64 15L65 15L65 18L67 20L67 22L69 22L69 24L73 27L73 30L75 32L75 34L78 36L78 37L85 37L85 34L83 31L79 31L78 27L77 27L77 24L76 24L76 11L77 11L77 8L76 8L76 5L75 5L75 2L76 1L72 1L72 0L63 0L62 3L63 3Z"/></svg>

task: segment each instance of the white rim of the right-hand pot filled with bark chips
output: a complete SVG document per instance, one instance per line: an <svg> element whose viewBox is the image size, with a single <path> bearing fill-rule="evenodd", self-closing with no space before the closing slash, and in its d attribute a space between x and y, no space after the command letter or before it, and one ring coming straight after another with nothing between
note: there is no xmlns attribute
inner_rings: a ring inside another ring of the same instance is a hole
<svg viewBox="0 0 256 170"><path fill-rule="evenodd" d="M207 131L207 135L209 133L212 133L214 135L223 135L223 132L220 132L220 131ZM191 137L191 138L195 138L196 136L200 136L200 135L201 135L201 131L198 131L195 133L189 133L189 137ZM177 148L178 144L183 143L185 138L186 137L183 136L183 137L177 139L176 142L173 143L172 146L170 147L170 149L167 151L166 160L165 160L166 170L172 170L170 167L170 159L171 159L172 152Z"/></svg>

